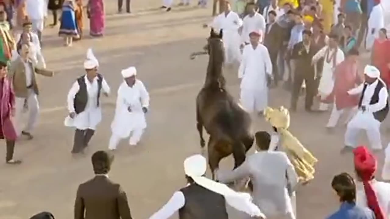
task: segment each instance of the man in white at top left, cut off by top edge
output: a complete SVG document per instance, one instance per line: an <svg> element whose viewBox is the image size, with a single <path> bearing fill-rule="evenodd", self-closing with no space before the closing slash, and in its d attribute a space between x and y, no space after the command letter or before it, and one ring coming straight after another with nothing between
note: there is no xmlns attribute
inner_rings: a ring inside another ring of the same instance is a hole
<svg viewBox="0 0 390 219"><path fill-rule="evenodd" d="M31 19L32 30L38 34L39 42L41 42L44 19L47 17L47 6L46 0L26 0L27 14Z"/></svg>

